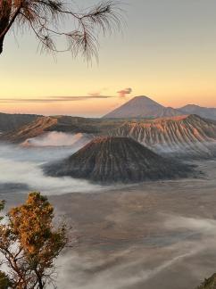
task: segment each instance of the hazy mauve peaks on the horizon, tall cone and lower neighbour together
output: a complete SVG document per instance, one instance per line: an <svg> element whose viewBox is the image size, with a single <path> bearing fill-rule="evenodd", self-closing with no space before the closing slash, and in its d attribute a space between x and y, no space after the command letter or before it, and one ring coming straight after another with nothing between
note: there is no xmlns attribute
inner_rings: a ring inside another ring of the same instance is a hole
<svg viewBox="0 0 216 289"><path fill-rule="evenodd" d="M147 96L136 96L128 103L104 115L104 119L157 119L184 114L197 114L203 118L216 120L216 108L186 105L179 109L165 107Z"/></svg>

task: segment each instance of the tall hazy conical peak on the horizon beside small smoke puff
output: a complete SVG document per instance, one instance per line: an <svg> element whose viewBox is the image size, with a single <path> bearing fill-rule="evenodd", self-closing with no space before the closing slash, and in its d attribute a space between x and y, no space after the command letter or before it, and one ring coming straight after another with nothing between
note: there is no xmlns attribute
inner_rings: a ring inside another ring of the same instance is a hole
<svg viewBox="0 0 216 289"><path fill-rule="evenodd" d="M137 96L106 114L104 119L118 118L161 118L183 114L171 107L164 107L146 96Z"/></svg>

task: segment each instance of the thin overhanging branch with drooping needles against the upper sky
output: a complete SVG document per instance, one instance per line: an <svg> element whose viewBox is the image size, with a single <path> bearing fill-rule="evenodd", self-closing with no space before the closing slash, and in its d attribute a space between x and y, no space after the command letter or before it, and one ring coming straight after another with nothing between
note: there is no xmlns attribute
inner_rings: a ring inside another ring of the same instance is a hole
<svg viewBox="0 0 216 289"><path fill-rule="evenodd" d="M120 4L114 0L96 4L84 12L74 12L70 4L58 0L1 1L0 44L14 25L21 29L29 27L42 51L71 51L74 57L81 54L87 61L97 59L99 33L105 35L119 30L122 23ZM65 20L69 21L71 29L62 28ZM66 39L64 49L57 47L55 37Z"/></svg>

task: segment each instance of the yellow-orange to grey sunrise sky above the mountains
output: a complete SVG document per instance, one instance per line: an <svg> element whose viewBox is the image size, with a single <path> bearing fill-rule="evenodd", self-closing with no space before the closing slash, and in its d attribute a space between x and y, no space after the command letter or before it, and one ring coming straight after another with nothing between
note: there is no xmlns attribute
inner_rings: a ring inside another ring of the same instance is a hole
<svg viewBox="0 0 216 289"><path fill-rule="evenodd" d="M98 1L77 2L87 7ZM100 37L98 64L74 60L70 53L56 60L39 54L33 33L14 29L0 56L0 111L100 117L137 95L165 106L216 107L216 1L120 5L126 25ZM131 94L119 97L125 88Z"/></svg>

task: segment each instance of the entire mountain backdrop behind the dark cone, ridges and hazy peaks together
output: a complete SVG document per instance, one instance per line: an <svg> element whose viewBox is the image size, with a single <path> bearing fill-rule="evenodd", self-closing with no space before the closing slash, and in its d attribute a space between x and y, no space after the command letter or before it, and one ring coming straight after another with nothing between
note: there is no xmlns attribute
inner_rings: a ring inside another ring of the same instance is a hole
<svg viewBox="0 0 216 289"><path fill-rule="evenodd" d="M137 96L101 119L0 114L0 141L34 145L55 136L50 132L68 133L74 139L83 135L81 144L95 136L120 136L162 155L212 158L216 155L216 120L210 120L214 110L195 105L175 110ZM67 137L62 135L62 139Z"/></svg>

